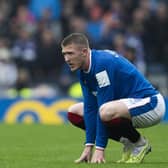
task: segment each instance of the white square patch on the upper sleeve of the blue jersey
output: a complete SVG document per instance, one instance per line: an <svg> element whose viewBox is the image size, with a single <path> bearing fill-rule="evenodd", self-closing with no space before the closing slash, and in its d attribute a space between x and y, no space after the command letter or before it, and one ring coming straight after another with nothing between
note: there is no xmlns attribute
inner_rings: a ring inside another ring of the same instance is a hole
<svg viewBox="0 0 168 168"><path fill-rule="evenodd" d="M96 79L99 85L99 88L110 85L110 80L107 74L107 71L101 71L96 74Z"/></svg>

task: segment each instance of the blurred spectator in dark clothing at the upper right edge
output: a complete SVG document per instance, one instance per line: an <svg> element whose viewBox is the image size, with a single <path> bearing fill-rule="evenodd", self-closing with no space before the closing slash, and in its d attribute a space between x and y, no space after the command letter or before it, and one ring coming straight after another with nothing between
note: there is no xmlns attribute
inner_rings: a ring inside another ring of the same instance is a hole
<svg viewBox="0 0 168 168"><path fill-rule="evenodd" d="M167 65L168 46L168 12L167 5L159 2L153 15L146 21L146 52L150 62L159 62ZM152 44L151 44L152 43ZM152 59L151 59L152 58Z"/></svg>

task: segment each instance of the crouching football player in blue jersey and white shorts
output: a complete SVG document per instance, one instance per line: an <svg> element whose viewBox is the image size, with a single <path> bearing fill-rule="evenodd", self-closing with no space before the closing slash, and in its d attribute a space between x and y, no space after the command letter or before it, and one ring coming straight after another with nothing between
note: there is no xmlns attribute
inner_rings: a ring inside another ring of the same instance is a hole
<svg viewBox="0 0 168 168"><path fill-rule="evenodd" d="M165 113L162 95L115 51L91 50L81 33L65 37L61 46L71 71L78 70L84 96L84 102L68 110L72 124L86 130L84 150L75 162L104 163L111 138L124 145L119 163L141 163L151 146L136 128L161 121Z"/></svg>

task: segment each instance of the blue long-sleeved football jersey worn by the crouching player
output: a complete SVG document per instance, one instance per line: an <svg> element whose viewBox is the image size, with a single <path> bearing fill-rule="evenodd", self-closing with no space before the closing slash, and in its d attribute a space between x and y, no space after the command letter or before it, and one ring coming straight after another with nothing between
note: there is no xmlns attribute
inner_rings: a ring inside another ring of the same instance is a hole
<svg viewBox="0 0 168 168"><path fill-rule="evenodd" d="M99 107L122 98L144 98L158 91L127 59L111 50L91 50L88 72L79 71L84 96L86 143L106 147L108 132Z"/></svg>

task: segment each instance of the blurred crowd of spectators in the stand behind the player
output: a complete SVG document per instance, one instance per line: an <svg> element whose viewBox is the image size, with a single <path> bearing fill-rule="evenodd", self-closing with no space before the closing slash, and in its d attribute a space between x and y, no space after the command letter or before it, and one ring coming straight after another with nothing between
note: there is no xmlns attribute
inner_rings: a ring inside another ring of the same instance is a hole
<svg viewBox="0 0 168 168"><path fill-rule="evenodd" d="M167 72L167 0L0 0L0 97L66 95L77 79L60 42L72 32L144 75L155 64Z"/></svg>

